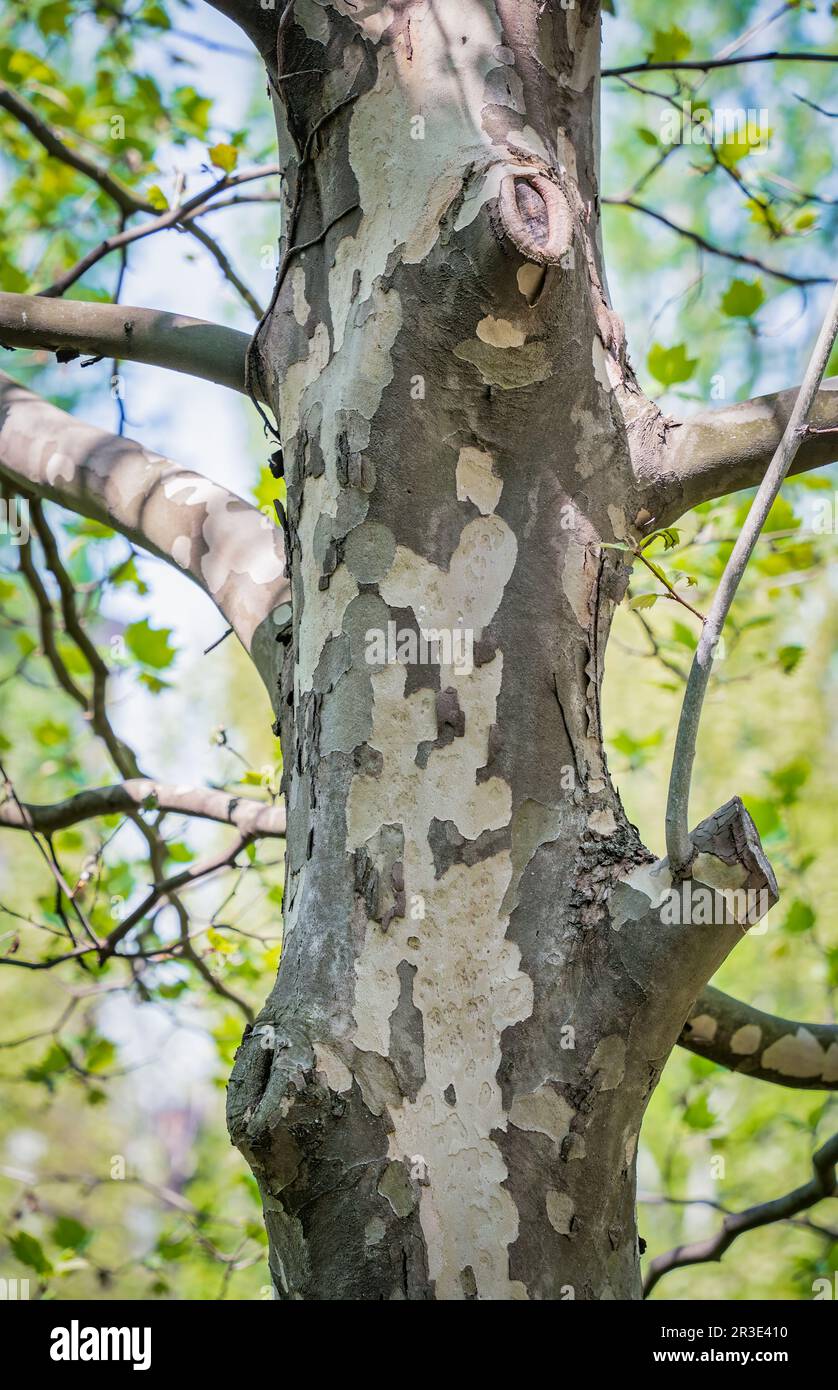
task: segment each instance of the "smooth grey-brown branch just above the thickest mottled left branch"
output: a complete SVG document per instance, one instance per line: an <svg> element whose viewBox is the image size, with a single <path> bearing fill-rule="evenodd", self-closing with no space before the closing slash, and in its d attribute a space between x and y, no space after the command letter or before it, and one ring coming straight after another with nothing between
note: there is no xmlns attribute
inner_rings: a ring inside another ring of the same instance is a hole
<svg viewBox="0 0 838 1390"><path fill-rule="evenodd" d="M0 293L0 343L143 361L245 391L247 334L161 309Z"/></svg>

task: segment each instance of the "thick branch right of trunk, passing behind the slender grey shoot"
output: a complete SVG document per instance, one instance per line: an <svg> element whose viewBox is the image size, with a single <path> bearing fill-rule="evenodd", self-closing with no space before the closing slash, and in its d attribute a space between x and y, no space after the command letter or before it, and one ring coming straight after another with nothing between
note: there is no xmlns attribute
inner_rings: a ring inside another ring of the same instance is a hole
<svg viewBox="0 0 838 1390"><path fill-rule="evenodd" d="M762 482L798 395L795 386L666 424L660 448L638 457L638 473L652 488L657 524L667 525L700 502ZM830 377L821 382L789 473L807 473L835 459L838 377Z"/></svg>

